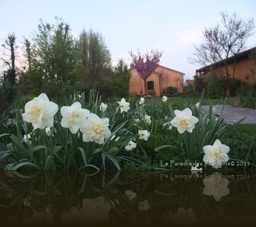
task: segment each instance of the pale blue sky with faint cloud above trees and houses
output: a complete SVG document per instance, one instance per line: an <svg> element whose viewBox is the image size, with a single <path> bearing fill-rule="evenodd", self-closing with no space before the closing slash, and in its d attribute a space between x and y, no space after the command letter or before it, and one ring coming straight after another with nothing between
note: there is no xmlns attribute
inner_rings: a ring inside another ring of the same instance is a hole
<svg viewBox="0 0 256 227"><path fill-rule="evenodd" d="M55 16L70 25L78 37L85 29L102 34L113 65L129 51L164 51L161 65L193 78L201 66L187 62L193 43L202 41L204 27L220 22L220 11L254 18L256 0L0 0L0 44L14 33L20 46L37 31L40 19L55 24ZM256 46L256 34L246 49ZM2 47L0 55L2 54ZM0 61L0 71L2 62Z"/></svg>

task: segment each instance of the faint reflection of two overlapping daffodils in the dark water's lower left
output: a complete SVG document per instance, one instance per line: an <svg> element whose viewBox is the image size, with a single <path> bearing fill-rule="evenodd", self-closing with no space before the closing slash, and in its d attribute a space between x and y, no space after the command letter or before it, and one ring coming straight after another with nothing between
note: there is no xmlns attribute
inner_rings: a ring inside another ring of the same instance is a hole
<svg viewBox="0 0 256 227"><path fill-rule="evenodd" d="M69 213L61 215L64 225L98 225L99 223L109 222L109 210L111 205L105 202L105 198L99 196L94 199L84 199L83 208L79 211L72 207Z"/></svg>

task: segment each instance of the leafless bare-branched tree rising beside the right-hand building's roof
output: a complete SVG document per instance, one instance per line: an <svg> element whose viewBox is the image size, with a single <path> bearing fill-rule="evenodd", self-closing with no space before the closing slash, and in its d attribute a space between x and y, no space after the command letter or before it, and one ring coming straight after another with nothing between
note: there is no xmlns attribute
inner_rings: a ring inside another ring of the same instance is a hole
<svg viewBox="0 0 256 227"><path fill-rule="evenodd" d="M202 67L214 65L213 70L217 70L221 76L228 77L230 72L227 67L227 59L244 50L248 38L255 34L256 26L253 18L245 21L236 12L231 16L226 12L220 12L220 16L219 24L203 30L203 42L194 45L195 51L188 57L188 62ZM225 72L220 71L220 65L216 64L220 61L222 64L224 63ZM236 61L233 65L233 77L235 64Z"/></svg>

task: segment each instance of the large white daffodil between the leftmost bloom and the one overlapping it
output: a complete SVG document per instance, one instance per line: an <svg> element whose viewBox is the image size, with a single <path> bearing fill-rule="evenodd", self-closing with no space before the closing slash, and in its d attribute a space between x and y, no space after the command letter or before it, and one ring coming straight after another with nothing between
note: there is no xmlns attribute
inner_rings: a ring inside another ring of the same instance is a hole
<svg viewBox="0 0 256 227"><path fill-rule="evenodd" d="M63 116L61 126L69 128L73 134L78 132L86 117L90 114L88 110L82 109L82 105L79 102L75 102L71 107L62 107L60 113Z"/></svg>

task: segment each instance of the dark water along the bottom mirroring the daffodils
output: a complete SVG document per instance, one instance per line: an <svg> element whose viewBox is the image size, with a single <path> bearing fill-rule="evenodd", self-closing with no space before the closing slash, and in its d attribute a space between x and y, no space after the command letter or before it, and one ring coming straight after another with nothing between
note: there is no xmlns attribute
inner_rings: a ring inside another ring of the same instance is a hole
<svg viewBox="0 0 256 227"><path fill-rule="evenodd" d="M0 172L0 227L255 223L256 171Z"/></svg>

